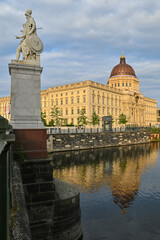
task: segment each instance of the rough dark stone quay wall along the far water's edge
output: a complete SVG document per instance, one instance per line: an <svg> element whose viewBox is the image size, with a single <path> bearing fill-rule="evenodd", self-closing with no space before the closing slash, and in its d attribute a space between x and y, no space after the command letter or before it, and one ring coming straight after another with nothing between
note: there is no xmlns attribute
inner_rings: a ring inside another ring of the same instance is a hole
<svg viewBox="0 0 160 240"><path fill-rule="evenodd" d="M48 152L123 146L150 142L148 131L49 134Z"/></svg>

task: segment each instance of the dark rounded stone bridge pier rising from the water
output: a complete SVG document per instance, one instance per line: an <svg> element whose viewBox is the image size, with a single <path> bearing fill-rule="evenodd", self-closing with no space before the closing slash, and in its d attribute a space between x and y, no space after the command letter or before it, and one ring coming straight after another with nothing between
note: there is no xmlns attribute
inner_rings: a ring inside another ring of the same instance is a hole
<svg viewBox="0 0 160 240"><path fill-rule="evenodd" d="M53 178L50 161L26 161L21 168L32 239L82 239L79 191Z"/></svg>

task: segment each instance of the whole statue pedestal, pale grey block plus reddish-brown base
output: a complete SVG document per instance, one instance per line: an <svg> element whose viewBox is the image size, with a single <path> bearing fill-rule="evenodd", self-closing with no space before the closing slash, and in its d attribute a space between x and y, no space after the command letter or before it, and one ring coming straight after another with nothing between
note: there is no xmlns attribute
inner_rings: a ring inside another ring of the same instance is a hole
<svg viewBox="0 0 160 240"><path fill-rule="evenodd" d="M12 60L11 121L15 136L15 151L23 149L27 158L47 158L46 129L41 121L42 67Z"/></svg>

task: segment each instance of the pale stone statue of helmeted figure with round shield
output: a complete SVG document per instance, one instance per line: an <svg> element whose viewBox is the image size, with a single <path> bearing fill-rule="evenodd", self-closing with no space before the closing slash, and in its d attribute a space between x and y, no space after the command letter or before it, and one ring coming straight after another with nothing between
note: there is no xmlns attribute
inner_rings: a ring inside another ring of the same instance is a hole
<svg viewBox="0 0 160 240"><path fill-rule="evenodd" d="M40 61L40 53L43 51L43 43L37 36L36 23L32 18L32 10L28 9L25 13L26 23L23 24L22 36L16 36L16 39L22 39L16 54L16 60L20 58L22 52L23 61Z"/></svg>

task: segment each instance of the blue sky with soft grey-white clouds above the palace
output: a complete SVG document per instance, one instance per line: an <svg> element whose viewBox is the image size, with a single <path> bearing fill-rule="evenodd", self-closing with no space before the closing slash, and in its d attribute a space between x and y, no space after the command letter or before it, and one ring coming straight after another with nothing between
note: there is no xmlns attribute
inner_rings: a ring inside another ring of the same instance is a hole
<svg viewBox="0 0 160 240"><path fill-rule="evenodd" d="M10 94L8 64L29 8L42 28L42 89L86 80L107 84L123 50L140 93L160 107L159 0L0 0L0 97Z"/></svg>

